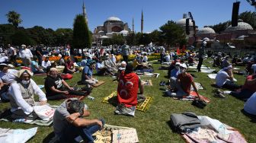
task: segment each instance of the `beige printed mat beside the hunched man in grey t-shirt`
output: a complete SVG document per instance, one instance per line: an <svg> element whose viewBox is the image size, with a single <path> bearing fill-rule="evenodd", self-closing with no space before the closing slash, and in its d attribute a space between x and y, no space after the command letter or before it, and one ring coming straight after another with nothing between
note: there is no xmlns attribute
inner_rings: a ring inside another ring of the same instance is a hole
<svg viewBox="0 0 256 143"><path fill-rule="evenodd" d="M95 143L139 142L136 129L123 126L110 126L106 124L104 125L104 129L95 132L93 135L96 137L94 140Z"/></svg>

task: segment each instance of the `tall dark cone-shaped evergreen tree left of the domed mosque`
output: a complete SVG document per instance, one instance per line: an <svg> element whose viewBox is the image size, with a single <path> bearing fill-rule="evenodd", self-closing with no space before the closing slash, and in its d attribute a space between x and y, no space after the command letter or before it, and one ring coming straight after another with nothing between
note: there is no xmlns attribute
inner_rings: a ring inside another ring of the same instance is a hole
<svg viewBox="0 0 256 143"><path fill-rule="evenodd" d="M91 47L91 34L88 30L88 25L85 22L85 17L78 14L75 17L73 25L73 47L75 49L83 49Z"/></svg>

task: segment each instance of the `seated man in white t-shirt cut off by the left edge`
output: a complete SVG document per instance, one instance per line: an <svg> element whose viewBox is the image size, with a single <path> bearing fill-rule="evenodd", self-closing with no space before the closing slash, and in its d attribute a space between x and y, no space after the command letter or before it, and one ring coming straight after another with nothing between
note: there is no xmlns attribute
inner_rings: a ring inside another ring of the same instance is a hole
<svg viewBox="0 0 256 143"><path fill-rule="evenodd" d="M15 69L9 69L6 64L0 64L0 98L3 102L9 101L8 92L10 91L10 85L15 78L18 71Z"/></svg>

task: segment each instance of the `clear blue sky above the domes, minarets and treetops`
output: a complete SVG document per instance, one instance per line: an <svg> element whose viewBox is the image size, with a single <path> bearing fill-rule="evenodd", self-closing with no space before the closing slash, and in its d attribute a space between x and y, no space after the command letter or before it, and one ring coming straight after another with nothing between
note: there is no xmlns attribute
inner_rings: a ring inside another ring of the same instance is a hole
<svg viewBox="0 0 256 143"><path fill-rule="evenodd" d="M144 32L158 30L167 21L178 21L189 11L199 28L205 25L231 21L232 3L235 0L0 0L0 24L7 24L5 14L16 11L21 14L21 27L72 28L74 18L82 14L82 3L88 15L91 31L104 24L108 17L119 17L135 31L140 31L141 12L144 15ZM255 11L240 1L239 14Z"/></svg>

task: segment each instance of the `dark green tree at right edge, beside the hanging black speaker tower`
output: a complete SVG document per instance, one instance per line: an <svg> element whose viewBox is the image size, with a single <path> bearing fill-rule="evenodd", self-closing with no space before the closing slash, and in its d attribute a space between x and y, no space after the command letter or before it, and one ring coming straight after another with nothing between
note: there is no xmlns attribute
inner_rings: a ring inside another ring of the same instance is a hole
<svg viewBox="0 0 256 143"><path fill-rule="evenodd" d="M238 19L242 19L242 21L250 24L254 30L256 29L256 12L245 11L239 14Z"/></svg>

